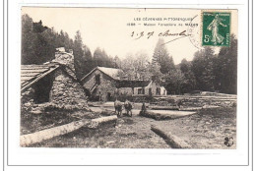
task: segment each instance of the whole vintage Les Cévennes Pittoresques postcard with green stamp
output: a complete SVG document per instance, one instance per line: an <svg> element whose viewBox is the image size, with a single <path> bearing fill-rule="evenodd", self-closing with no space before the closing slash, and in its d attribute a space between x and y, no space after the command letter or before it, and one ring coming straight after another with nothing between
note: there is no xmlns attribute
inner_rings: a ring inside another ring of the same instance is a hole
<svg viewBox="0 0 256 171"><path fill-rule="evenodd" d="M21 147L236 149L237 10L21 18Z"/></svg>

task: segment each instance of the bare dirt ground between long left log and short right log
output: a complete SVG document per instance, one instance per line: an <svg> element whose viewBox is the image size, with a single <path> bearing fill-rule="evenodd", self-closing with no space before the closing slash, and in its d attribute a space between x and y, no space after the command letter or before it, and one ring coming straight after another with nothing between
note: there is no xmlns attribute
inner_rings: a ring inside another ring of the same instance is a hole
<svg viewBox="0 0 256 171"><path fill-rule="evenodd" d="M119 118L115 127L85 130L33 144L44 147L169 148L154 132L156 121L139 116Z"/></svg>

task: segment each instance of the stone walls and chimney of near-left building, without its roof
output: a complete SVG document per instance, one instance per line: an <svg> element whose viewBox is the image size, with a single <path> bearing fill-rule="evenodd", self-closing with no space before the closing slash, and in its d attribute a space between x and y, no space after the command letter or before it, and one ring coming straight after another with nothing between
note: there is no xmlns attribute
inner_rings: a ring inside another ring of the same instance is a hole
<svg viewBox="0 0 256 171"><path fill-rule="evenodd" d="M48 82L45 82L40 84L40 86L38 86L39 89L37 89L43 89L45 84L49 85L50 91L45 92L49 94L49 100L44 103L34 104L34 102L36 102L36 99L34 99L34 90L36 89L33 87L40 82L38 81L32 85L31 88L22 93L22 108L31 104L31 108L38 108L38 106L40 106L40 109L36 109L36 111L43 110L45 107L49 106L63 109L88 109L86 91L83 85L77 81L74 73L74 55L67 52L56 52L55 59L52 62L57 62L62 65L60 65L54 73L50 74L51 77L46 76L41 79L50 79L50 85Z"/></svg>

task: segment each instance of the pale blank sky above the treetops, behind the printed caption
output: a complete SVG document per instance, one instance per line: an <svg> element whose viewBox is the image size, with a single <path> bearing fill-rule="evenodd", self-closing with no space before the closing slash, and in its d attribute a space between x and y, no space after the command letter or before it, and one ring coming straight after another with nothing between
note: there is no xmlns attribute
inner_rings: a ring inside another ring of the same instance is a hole
<svg viewBox="0 0 256 171"><path fill-rule="evenodd" d="M202 48L201 10L23 7L22 14L28 14L33 22L41 20L42 25L48 28L54 28L56 31L62 29L73 39L76 31L80 30L84 44L92 53L99 47L108 55L117 55L121 59L138 51L146 52L151 59L160 37L165 42L172 40L166 43L165 47L175 64L179 64L184 58L191 61L194 53ZM152 21L153 18L155 21ZM189 24L190 21L177 21L177 18L194 18L191 23L198 26L190 29L193 36L162 36L167 30L172 34L189 30L185 24ZM129 24L136 26L128 26ZM144 26L145 24L155 26ZM173 26L174 24L176 26ZM232 11L231 33L237 34L236 26L236 11ZM142 31L143 36L140 37ZM219 49L215 48L216 52Z"/></svg>

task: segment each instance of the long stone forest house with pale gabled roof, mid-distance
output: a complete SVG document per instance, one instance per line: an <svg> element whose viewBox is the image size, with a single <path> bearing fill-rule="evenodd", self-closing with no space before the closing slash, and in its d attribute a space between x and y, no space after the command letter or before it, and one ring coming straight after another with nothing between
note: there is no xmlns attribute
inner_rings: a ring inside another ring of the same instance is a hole
<svg viewBox="0 0 256 171"><path fill-rule="evenodd" d="M109 101L118 96L126 95L165 95L163 86L150 81L122 80L119 77L120 69L96 67L87 74L81 82L91 92L94 100Z"/></svg>

